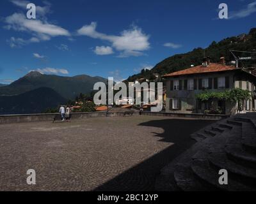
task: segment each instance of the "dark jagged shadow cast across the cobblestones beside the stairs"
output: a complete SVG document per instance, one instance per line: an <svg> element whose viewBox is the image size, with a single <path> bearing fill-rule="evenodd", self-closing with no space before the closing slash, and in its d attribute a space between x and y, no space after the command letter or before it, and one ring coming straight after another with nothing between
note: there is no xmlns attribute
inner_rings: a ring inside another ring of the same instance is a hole
<svg viewBox="0 0 256 204"><path fill-rule="evenodd" d="M195 141L190 138L192 133L195 133L213 122L216 121L164 119L150 120L139 124L139 126L163 128L164 133L156 133L155 136L161 137L160 142L170 142L173 143L173 145L133 168L124 171L114 179L97 187L94 191L154 191L156 177L160 173L160 170L195 143Z"/></svg>

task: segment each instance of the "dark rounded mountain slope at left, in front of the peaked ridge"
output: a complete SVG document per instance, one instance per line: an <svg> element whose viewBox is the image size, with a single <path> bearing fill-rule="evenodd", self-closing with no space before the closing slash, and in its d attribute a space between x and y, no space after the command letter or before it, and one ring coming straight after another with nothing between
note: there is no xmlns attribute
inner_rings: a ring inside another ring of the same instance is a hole
<svg viewBox="0 0 256 204"><path fill-rule="evenodd" d="M40 87L17 96L0 96L0 115L42 113L66 102L53 89Z"/></svg>

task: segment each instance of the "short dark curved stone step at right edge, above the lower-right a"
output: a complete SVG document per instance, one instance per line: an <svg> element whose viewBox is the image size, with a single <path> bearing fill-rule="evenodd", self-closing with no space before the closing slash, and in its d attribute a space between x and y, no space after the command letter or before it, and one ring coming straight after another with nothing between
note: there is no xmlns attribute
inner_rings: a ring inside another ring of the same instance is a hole
<svg viewBox="0 0 256 204"><path fill-rule="evenodd" d="M237 164L256 169L256 154L252 154L243 149L243 145L229 145L225 147L228 159Z"/></svg>

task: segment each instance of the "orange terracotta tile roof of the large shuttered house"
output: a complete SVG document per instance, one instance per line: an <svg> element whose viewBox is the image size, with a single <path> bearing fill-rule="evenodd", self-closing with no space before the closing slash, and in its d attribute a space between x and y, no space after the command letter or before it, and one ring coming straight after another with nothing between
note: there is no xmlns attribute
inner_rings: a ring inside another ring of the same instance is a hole
<svg viewBox="0 0 256 204"><path fill-rule="evenodd" d="M193 68L188 68L188 69L184 69L181 71L176 71L176 72L164 75L163 77L174 77L179 75L192 75L192 74L208 73L208 72L229 71L234 69L236 69L234 66L210 63L209 66L207 67L204 67L202 65L195 66Z"/></svg>

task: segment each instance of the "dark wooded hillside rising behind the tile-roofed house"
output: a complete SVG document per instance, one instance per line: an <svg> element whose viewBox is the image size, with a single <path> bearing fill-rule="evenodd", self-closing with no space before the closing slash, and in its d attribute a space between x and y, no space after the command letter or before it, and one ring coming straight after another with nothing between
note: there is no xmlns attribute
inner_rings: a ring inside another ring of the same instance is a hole
<svg viewBox="0 0 256 204"><path fill-rule="evenodd" d="M230 50L240 50L256 52L256 28L250 30L248 34L240 34L230 38L225 38L220 42L212 41L209 47L195 48L193 51L186 54L177 54L172 57L168 57L159 62L151 70L142 70L141 73L129 77L129 82L134 82L137 78L152 78L153 73L159 73L164 75L166 73L172 73L182 69L189 68L191 64L194 66L202 64L202 59L205 56L211 57L212 62L220 62L220 57L225 57L227 62L234 61L233 55ZM236 53L238 54L238 53ZM245 55L239 54L239 57ZM255 66L255 61L243 61L239 62L240 66ZM154 78L154 77L153 77Z"/></svg>

